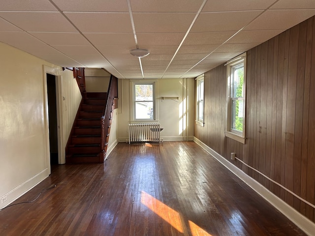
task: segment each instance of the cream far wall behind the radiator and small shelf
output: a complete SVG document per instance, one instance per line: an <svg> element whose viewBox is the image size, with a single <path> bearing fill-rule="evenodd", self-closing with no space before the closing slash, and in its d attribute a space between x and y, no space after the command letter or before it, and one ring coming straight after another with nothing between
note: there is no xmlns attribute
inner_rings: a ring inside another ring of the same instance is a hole
<svg viewBox="0 0 315 236"><path fill-rule="evenodd" d="M128 139L130 121L130 81L119 80L118 100L118 133L120 142ZM145 81L145 80L141 80ZM159 79L156 102L158 122L164 128L161 138L164 141L193 140L194 127L194 80ZM164 99L162 99L164 97ZM175 98L176 97L176 98ZM177 99L179 97L179 99ZM187 125L188 124L188 125Z"/></svg>

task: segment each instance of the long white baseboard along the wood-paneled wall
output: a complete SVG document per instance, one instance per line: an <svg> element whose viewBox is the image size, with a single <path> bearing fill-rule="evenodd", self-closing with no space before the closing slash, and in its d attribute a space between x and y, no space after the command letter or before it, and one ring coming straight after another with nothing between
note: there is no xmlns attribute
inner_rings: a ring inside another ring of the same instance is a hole
<svg viewBox="0 0 315 236"><path fill-rule="evenodd" d="M303 230L307 235L314 236L315 223L306 218L300 212L298 212L293 207L286 204L282 199L278 198L267 188L261 185L252 177L246 175L242 170L234 166L231 162L222 157L219 153L213 149L206 146L200 140L194 137L193 141L198 144L201 148L209 152L214 158L216 158L223 166L230 170L234 175L243 180L247 185L249 185L255 192L257 192L261 197L268 201L271 205L276 207L280 212L282 212L289 220L291 220L296 226Z"/></svg>

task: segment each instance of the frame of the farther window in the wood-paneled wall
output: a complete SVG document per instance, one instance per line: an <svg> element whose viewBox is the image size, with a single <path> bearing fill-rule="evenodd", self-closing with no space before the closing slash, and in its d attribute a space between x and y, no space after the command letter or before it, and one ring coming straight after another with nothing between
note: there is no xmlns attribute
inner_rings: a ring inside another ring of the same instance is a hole
<svg viewBox="0 0 315 236"><path fill-rule="evenodd" d="M204 126L204 120L205 120L205 100L204 100L204 90L205 90L205 76L204 74L199 75L195 78L196 80L196 117L195 117L195 123L200 125L200 126ZM203 83L203 88L202 91L200 89L200 84ZM202 98L201 98L202 96ZM202 100L202 105L200 106L200 101ZM200 114L200 109L202 109L202 119L199 118L199 114Z"/></svg>

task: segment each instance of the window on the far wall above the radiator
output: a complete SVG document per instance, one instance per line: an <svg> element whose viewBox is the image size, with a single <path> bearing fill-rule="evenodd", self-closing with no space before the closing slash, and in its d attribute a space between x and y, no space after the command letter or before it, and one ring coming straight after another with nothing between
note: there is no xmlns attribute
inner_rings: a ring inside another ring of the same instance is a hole
<svg viewBox="0 0 315 236"><path fill-rule="evenodd" d="M155 82L133 82L132 89L131 120L155 120Z"/></svg>

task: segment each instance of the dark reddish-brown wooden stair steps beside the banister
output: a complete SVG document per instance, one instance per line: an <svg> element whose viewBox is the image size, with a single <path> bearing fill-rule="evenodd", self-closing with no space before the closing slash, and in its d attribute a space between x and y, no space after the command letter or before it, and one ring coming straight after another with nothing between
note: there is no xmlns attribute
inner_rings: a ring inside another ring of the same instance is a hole
<svg viewBox="0 0 315 236"><path fill-rule="evenodd" d="M106 94L92 92L83 97L68 140L66 163L103 162L101 118L106 106Z"/></svg>

